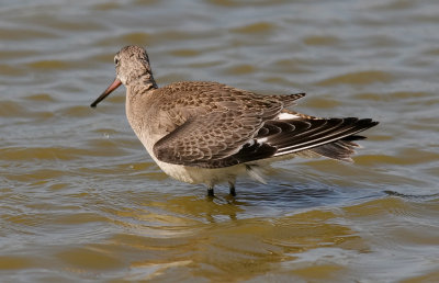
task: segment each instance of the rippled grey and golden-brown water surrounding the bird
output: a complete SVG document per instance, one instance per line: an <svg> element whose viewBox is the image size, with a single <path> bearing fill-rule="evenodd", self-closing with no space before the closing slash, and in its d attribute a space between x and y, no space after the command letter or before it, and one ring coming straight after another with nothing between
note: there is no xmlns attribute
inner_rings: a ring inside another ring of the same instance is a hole
<svg viewBox="0 0 439 283"><path fill-rule="evenodd" d="M439 8L434 0L2 1L2 282L439 280ZM122 46L160 86L307 92L373 117L356 163L296 159L268 185L173 181L124 116Z"/></svg>

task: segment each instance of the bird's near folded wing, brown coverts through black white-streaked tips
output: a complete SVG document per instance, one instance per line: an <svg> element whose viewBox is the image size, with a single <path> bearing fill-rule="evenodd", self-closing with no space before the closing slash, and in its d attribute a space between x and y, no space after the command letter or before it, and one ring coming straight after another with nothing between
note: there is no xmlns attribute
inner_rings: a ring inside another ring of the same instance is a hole
<svg viewBox="0 0 439 283"><path fill-rule="evenodd" d="M269 120L227 112L189 120L157 142L161 161L221 168L285 155L312 152L349 160L357 133L375 126L370 118Z"/></svg>

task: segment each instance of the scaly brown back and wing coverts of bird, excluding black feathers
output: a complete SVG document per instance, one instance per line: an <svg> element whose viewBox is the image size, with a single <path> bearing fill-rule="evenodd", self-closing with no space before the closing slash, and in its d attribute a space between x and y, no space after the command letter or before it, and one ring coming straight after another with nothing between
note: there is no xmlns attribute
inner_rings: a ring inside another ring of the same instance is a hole
<svg viewBox="0 0 439 283"><path fill-rule="evenodd" d="M230 157L252 143L263 123L305 95L257 95L212 82L168 88L173 99L161 103L158 111L179 126L154 145L154 154L165 162L206 168L238 163Z"/></svg>

